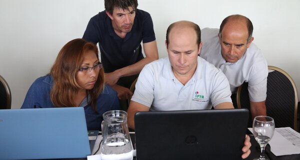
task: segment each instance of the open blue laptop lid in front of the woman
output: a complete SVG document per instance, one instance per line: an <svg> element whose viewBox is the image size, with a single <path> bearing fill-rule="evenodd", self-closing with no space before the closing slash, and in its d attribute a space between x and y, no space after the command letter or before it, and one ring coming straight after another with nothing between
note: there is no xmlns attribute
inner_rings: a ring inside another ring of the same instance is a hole
<svg viewBox="0 0 300 160"><path fill-rule="evenodd" d="M0 159L90 155L83 107L0 109Z"/></svg>

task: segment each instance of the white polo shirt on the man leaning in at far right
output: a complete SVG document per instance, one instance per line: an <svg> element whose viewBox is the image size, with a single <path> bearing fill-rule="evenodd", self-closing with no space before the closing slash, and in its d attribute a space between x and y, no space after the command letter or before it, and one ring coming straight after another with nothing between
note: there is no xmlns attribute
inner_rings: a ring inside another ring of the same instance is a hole
<svg viewBox="0 0 300 160"><path fill-rule="evenodd" d="M218 31L216 28L201 29L200 56L223 71L232 93L245 81L248 82L250 101L265 100L268 69L260 49L252 42L239 60L226 62L221 54Z"/></svg>

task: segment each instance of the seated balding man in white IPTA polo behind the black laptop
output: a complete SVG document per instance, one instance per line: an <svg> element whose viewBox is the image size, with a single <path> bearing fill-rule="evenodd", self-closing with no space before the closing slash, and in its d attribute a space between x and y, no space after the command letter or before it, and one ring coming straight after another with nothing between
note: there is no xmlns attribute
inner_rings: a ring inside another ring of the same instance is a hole
<svg viewBox="0 0 300 160"><path fill-rule="evenodd" d="M137 111L233 108L225 75L198 56L202 43L197 24L172 23L165 45L168 57L145 65L139 73L127 110L130 128ZM242 158L250 153L249 136L244 144Z"/></svg>

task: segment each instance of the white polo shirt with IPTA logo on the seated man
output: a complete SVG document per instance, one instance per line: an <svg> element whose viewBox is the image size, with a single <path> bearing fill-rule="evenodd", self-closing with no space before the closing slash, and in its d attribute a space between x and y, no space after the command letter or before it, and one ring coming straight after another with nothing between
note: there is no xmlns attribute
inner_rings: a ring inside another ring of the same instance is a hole
<svg viewBox="0 0 300 160"><path fill-rule="evenodd" d="M150 110L211 109L221 102L231 102L230 95L225 75L201 57L197 57L196 71L185 85L175 78L165 57L144 66L131 100Z"/></svg>

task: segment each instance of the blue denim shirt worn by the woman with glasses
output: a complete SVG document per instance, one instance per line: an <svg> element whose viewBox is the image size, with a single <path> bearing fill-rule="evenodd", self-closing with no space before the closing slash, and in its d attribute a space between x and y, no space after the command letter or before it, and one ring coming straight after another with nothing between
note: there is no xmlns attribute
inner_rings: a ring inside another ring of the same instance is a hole
<svg viewBox="0 0 300 160"><path fill-rule="evenodd" d="M50 75L37 78L27 91L21 108L47 108L55 107L50 99L53 79ZM84 105L85 104L85 105ZM110 86L105 85L104 90L97 98L96 110L83 99L80 106L84 107L87 130L101 130L102 114L108 110L119 110L117 93Z"/></svg>

